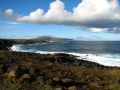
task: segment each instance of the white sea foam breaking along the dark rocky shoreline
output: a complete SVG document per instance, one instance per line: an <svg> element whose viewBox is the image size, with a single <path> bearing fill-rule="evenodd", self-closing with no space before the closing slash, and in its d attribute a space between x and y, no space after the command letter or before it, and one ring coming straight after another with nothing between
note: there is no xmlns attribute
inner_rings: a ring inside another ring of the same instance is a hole
<svg viewBox="0 0 120 90"><path fill-rule="evenodd" d="M96 62L105 66L120 66L120 55L119 54L83 54L83 53L69 53L69 52L51 52L51 51L30 51L23 50L20 45L13 45L10 50L19 52L34 52L40 54L56 54L56 53L66 53L70 55L77 56L77 59L83 59L86 61Z"/></svg>

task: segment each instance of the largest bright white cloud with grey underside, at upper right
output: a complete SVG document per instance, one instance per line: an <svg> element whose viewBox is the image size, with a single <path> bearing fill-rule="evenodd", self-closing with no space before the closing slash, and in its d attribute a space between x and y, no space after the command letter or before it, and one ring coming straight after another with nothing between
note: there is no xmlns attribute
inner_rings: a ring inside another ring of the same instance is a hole
<svg viewBox="0 0 120 90"><path fill-rule="evenodd" d="M108 28L120 26L120 12L117 0L83 0L73 10L77 24L88 27Z"/></svg>

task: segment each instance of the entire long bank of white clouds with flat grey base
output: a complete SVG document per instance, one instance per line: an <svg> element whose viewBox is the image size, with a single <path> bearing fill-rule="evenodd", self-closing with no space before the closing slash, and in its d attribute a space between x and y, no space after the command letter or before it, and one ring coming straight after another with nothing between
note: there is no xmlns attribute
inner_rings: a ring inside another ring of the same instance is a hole
<svg viewBox="0 0 120 90"><path fill-rule="evenodd" d="M5 14L14 16L18 22L83 26L92 28L93 32L110 31L120 27L118 0L82 0L72 11L65 10L64 3L56 0L50 4L47 12L39 8L28 16L18 17L13 14L13 10L8 9Z"/></svg>

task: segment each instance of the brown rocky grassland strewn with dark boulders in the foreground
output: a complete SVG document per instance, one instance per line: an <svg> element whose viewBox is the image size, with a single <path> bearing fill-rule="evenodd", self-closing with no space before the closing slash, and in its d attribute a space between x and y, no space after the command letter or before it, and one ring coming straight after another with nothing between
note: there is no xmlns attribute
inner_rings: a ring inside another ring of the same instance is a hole
<svg viewBox="0 0 120 90"><path fill-rule="evenodd" d="M68 54L0 51L0 90L120 90L120 68Z"/></svg>

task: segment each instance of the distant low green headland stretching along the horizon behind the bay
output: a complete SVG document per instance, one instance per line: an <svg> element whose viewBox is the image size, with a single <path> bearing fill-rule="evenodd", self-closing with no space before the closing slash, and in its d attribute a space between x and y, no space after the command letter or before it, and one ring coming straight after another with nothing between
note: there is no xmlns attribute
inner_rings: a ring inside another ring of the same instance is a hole
<svg viewBox="0 0 120 90"><path fill-rule="evenodd" d="M8 47L11 47L13 44L34 44L34 43L54 43L54 42L67 42L72 39L67 38L57 38L50 36L41 36L32 39L0 39L0 50L7 50Z"/></svg>

